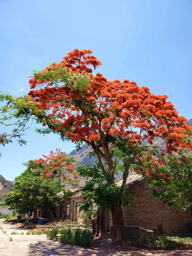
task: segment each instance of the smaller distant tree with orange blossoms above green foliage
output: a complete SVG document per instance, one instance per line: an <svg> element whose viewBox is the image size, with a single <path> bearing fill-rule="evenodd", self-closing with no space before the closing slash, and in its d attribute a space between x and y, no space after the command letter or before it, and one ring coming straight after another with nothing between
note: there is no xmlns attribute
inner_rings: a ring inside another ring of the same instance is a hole
<svg viewBox="0 0 192 256"><path fill-rule="evenodd" d="M37 210L48 210L53 218L52 210L63 198L63 193L68 193L65 191L65 184L60 183L61 176L65 182L78 183L73 161L72 157L66 157L66 153L61 153L60 149L55 153L50 151L48 156L43 155L43 159L28 161L25 164L26 171L16 177L14 191L6 196L6 205L18 213L33 211L35 219ZM70 174L73 175L73 180L68 176Z"/></svg>

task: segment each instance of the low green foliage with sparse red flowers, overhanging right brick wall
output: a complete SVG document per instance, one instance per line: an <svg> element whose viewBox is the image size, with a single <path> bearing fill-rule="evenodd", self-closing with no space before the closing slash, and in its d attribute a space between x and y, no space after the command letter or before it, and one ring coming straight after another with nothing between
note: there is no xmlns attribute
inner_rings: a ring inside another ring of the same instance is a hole
<svg viewBox="0 0 192 256"><path fill-rule="evenodd" d="M192 156L151 154L142 156L134 166L146 177L152 189L151 196L159 197L169 207L191 210L192 206Z"/></svg>

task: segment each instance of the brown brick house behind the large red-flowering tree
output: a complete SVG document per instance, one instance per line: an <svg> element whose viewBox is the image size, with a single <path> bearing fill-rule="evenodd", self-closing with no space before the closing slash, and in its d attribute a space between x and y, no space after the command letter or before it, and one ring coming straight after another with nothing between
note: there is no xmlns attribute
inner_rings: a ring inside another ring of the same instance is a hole
<svg viewBox="0 0 192 256"><path fill-rule="evenodd" d="M120 185L120 182L119 182ZM129 186L129 200L134 201L135 206L123 206L125 227L137 225L146 229L156 230L157 233L181 233L188 223L192 223L191 213L188 211L174 210L164 206L159 198L151 198L149 183L139 174L131 174L127 178ZM82 203L80 189L74 191L73 196L65 198L56 208L55 218L67 217L79 224L85 220L79 212L79 203ZM109 210L105 210L105 230L112 227L112 216Z"/></svg>

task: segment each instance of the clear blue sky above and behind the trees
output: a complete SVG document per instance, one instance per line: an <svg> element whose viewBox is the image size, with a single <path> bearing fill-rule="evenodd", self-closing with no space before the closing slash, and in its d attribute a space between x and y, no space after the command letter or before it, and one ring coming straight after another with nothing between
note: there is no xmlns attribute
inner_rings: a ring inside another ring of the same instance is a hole
<svg viewBox="0 0 192 256"><path fill-rule="evenodd" d="M178 113L192 118L191 0L0 0L0 90L29 91L32 70L42 70L74 48L91 49L108 80L129 79L169 95ZM0 174L13 181L22 163L75 146L41 136L35 124L26 146L0 145ZM4 127L0 127L5 132Z"/></svg>

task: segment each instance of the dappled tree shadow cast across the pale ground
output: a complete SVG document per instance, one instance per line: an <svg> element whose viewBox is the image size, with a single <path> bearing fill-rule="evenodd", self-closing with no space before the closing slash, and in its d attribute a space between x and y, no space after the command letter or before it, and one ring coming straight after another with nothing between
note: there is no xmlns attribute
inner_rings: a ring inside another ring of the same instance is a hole
<svg viewBox="0 0 192 256"><path fill-rule="evenodd" d="M74 245L64 245L60 242L55 241L39 241L36 243L31 243L28 247L27 256L107 256L107 255L118 255L118 256L190 256L192 255L192 250L177 250L177 251L161 251L161 250L144 250L141 248L130 247L129 250L122 250L118 248L85 248Z"/></svg>

